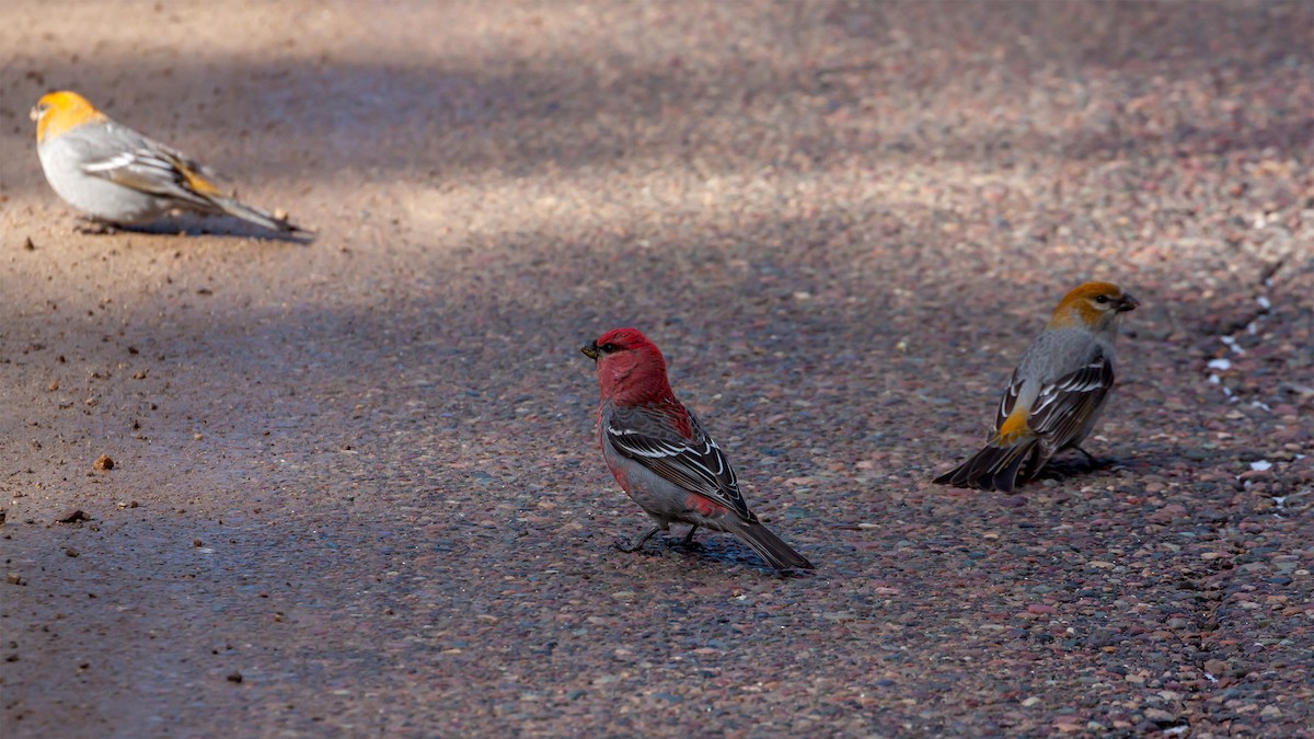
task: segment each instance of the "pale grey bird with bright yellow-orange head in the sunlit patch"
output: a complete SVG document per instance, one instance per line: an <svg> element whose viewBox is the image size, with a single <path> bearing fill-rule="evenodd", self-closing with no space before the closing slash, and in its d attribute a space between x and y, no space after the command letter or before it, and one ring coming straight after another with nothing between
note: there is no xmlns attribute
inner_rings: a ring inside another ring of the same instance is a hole
<svg viewBox="0 0 1314 739"><path fill-rule="evenodd" d="M116 124L76 92L50 92L32 109L50 187L97 221L148 224L175 209L226 213L289 234L304 229L219 191L214 172Z"/></svg>

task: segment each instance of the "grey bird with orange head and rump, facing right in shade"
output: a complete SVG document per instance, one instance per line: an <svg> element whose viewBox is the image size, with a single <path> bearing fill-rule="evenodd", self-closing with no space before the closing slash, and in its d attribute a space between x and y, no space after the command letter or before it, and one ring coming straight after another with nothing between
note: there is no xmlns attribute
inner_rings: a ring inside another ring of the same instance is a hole
<svg viewBox="0 0 1314 739"><path fill-rule="evenodd" d="M1113 339L1137 298L1109 283L1085 283L1063 296L1047 326L1022 355L986 448L936 483L1012 492L1055 454L1080 444L1113 387Z"/></svg>

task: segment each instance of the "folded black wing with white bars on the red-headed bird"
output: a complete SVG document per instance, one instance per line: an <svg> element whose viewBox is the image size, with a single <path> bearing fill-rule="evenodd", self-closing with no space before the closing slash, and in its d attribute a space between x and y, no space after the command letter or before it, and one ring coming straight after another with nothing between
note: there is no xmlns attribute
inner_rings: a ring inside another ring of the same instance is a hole
<svg viewBox="0 0 1314 739"><path fill-rule="evenodd" d="M644 408L615 408L606 422L606 434L622 455L690 492L724 505L742 518L752 518L721 448L703 431L690 413L691 437L670 427L661 413Z"/></svg>

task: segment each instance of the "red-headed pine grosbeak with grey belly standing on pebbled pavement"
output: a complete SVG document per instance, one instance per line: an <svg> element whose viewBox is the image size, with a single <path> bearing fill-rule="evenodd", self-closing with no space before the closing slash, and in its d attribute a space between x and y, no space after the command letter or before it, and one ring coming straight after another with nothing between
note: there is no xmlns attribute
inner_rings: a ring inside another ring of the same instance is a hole
<svg viewBox="0 0 1314 739"><path fill-rule="evenodd" d="M625 493L653 517L657 526L632 552L670 525L729 531L744 539L775 569L812 563L790 548L753 515L721 448L685 408L666 380L666 359L637 329L614 329L582 350L598 366L602 402L598 442L607 467Z"/></svg>

